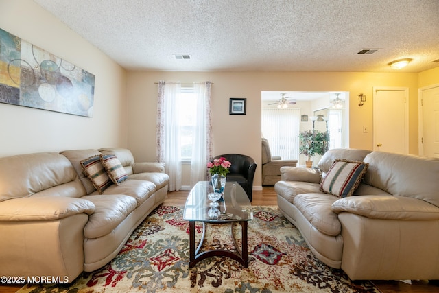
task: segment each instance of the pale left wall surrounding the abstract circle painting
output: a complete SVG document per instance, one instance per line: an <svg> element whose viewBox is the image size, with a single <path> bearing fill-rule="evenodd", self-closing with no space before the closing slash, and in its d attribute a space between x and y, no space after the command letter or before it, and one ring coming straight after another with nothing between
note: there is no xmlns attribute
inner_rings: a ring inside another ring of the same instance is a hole
<svg viewBox="0 0 439 293"><path fill-rule="evenodd" d="M126 71L32 0L0 0L0 28L95 75L93 117L0 103L0 156L126 147Z"/></svg>

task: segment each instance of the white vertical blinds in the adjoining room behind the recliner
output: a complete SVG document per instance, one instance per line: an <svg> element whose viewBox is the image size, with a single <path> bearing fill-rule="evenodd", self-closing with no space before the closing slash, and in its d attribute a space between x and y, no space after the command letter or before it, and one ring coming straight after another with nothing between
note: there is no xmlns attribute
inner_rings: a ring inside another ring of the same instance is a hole
<svg viewBox="0 0 439 293"><path fill-rule="evenodd" d="M262 134L272 156L299 159L300 109L262 109Z"/></svg>

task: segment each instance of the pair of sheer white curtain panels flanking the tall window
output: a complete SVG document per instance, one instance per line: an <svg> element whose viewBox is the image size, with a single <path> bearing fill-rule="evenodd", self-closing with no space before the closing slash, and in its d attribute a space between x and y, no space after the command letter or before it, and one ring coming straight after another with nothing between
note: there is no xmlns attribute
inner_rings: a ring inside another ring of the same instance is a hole
<svg viewBox="0 0 439 293"><path fill-rule="evenodd" d="M191 187L206 180L207 161L212 156L211 139L211 82L193 84L196 99L195 127L191 156ZM165 163L169 175L169 191L182 187L180 115L184 103L180 97L181 85L158 82L157 103L157 160Z"/></svg>

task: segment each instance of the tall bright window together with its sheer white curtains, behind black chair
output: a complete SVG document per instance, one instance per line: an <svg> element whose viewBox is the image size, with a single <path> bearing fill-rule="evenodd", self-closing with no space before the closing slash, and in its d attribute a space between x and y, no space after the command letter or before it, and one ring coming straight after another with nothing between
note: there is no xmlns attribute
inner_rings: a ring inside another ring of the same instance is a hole
<svg viewBox="0 0 439 293"><path fill-rule="evenodd" d="M182 187L183 159L191 163L191 186L206 179L211 158L211 82L158 82L157 160L165 163L169 191Z"/></svg>

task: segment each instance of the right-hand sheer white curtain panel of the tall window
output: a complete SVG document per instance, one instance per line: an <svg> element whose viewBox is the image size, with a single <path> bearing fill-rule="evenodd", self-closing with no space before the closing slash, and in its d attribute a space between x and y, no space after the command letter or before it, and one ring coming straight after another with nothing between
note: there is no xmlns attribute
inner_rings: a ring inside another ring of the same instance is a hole
<svg viewBox="0 0 439 293"><path fill-rule="evenodd" d="M191 157L191 187L198 181L206 180L206 164L212 156L211 82L194 84L193 89L197 106Z"/></svg>

